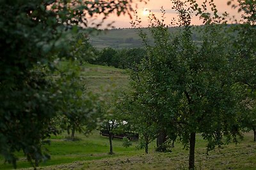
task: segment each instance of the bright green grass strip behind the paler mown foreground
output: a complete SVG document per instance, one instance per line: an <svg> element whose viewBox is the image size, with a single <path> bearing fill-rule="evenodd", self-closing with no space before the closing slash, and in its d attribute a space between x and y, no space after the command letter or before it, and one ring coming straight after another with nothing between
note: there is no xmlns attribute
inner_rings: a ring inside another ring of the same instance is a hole
<svg viewBox="0 0 256 170"><path fill-rule="evenodd" d="M46 146L50 151L51 160L40 164L41 166L67 164L78 160L98 160L126 154L135 155L138 153L138 150L135 148L138 142L134 142L131 148L124 148L122 146L122 140L114 139L115 155L109 156L108 138L100 136L99 131L96 130L89 136L77 133L77 137L81 139L79 141L67 141L65 140L66 135L64 133L59 136L52 136L51 145ZM17 155L19 155L18 168L31 167L21 153ZM0 158L0 169L12 169L12 166L10 164L4 164L3 158Z"/></svg>

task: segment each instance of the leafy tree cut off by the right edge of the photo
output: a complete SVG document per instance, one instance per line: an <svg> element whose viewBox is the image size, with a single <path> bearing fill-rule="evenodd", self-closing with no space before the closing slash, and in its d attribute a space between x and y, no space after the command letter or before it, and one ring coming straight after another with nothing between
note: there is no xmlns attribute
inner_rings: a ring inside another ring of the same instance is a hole
<svg viewBox="0 0 256 170"><path fill-rule="evenodd" d="M254 134L254 141L256 140L255 132L255 108L256 108L256 81L255 81L255 64L256 64L256 10L255 1L229 1L232 7L238 8L241 11L243 20L240 24L232 27L236 32L236 41L233 41L234 51L234 67L232 73L236 78L237 83L241 85L241 97L244 106L241 113L241 122L246 130L252 130Z"/></svg>

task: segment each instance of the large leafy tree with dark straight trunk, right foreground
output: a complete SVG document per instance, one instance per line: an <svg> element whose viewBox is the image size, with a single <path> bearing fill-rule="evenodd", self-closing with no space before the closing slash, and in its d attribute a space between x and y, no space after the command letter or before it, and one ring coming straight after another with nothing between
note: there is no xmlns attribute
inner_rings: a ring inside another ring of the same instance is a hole
<svg viewBox="0 0 256 170"><path fill-rule="evenodd" d="M151 15L150 31L155 44L148 45L147 34L140 33L147 55L141 62L143 68L134 73L140 75L143 83L138 86L143 90L135 90L138 96L148 97L143 104L154 107L150 111L154 112L155 122L169 127L168 136L178 136L189 148L189 169L194 169L196 133L208 141L207 151L223 145L223 136L227 142L237 142L237 136L241 136L237 114L241 100L231 74L232 43L227 45L232 42L228 39L230 32L220 24L222 17L215 13L214 4L210 3L213 17L199 12L205 26L198 45L193 41L190 25L191 13L198 4L186 7L182 1L172 2L179 15L180 34L172 36L168 32L163 23L164 10L161 19Z"/></svg>

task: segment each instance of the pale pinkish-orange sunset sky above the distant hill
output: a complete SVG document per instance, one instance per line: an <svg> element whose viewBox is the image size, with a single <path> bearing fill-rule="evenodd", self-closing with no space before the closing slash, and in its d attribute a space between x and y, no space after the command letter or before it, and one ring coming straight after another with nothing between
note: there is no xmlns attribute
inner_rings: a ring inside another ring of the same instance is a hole
<svg viewBox="0 0 256 170"><path fill-rule="evenodd" d="M136 1L136 0L135 0ZM197 2L200 4L204 0L198 0ZM227 11L230 13L230 16L238 16L237 15L237 10L234 10L231 8L231 6L227 5L227 0L214 0L214 3L217 6L218 11L221 13L224 13ZM135 6L135 3L134 3ZM172 10L172 3L170 0L149 0L147 4L145 3L138 3L138 8L134 8L138 11L138 17L141 18L141 25L143 27L147 27L148 25L148 13L145 12L147 11L152 11L157 17L161 15L160 9L161 6L163 6L164 10L166 10L166 15L165 15L165 24L169 25L170 21L172 18L176 18L177 14L175 11ZM143 12L144 11L144 12ZM134 20L134 18L133 18ZM104 22L104 26L107 24L114 22L112 26L115 28L125 28L125 27L131 27L131 22L132 20L130 19L129 15L120 15L117 17L117 15L110 15L108 19ZM202 25L202 21L200 21L198 18L193 17L192 19L192 24L193 25Z"/></svg>

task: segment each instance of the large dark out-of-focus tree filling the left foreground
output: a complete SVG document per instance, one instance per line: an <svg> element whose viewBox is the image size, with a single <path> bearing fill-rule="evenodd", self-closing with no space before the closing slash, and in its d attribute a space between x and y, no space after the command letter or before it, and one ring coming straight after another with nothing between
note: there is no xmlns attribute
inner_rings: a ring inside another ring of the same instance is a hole
<svg viewBox="0 0 256 170"><path fill-rule="evenodd" d="M130 13L131 1L1 1L0 152L16 167L22 150L37 166L48 159L42 150L54 132L51 119L63 106L62 92L51 80L54 61L75 59L67 39L88 19L102 13ZM95 23L97 27L100 23Z"/></svg>

